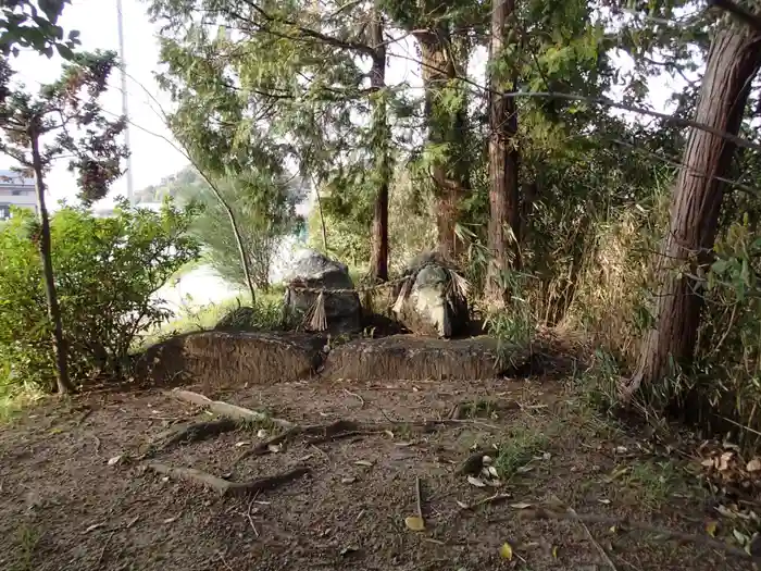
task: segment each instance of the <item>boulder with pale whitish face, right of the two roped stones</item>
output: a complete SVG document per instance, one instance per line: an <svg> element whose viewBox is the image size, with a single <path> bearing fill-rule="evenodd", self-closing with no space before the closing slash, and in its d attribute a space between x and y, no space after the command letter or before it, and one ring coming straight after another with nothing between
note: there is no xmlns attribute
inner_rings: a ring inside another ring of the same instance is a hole
<svg viewBox="0 0 761 571"><path fill-rule="evenodd" d="M406 270L394 312L412 333L449 338L467 330L470 315L464 280L444 258L429 252Z"/></svg>

